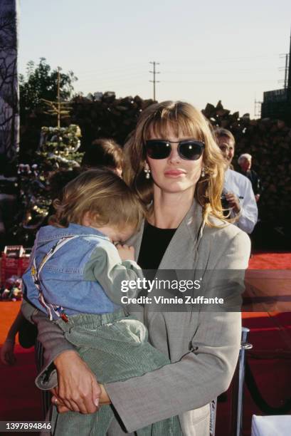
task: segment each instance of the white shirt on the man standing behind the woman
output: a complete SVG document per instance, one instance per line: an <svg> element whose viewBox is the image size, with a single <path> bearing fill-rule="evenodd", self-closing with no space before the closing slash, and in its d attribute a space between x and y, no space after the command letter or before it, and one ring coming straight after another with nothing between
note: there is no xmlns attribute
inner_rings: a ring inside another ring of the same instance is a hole
<svg viewBox="0 0 291 436"><path fill-rule="evenodd" d="M235 224L246 233L253 232L258 221L258 207L250 180L239 172L228 169L224 177L223 192L232 192L239 199L240 215ZM231 217L235 216L232 212Z"/></svg>

